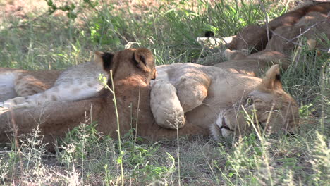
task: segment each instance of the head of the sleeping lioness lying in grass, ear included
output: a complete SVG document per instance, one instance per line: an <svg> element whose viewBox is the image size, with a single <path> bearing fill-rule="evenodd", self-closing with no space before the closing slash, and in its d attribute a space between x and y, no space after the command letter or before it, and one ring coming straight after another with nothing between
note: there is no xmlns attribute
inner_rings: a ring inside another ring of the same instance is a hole
<svg viewBox="0 0 330 186"><path fill-rule="evenodd" d="M222 111L211 127L215 139L253 130L293 132L299 125L298 105L283 91L279 65L269 68L261 84L243 101Z"/></svg>

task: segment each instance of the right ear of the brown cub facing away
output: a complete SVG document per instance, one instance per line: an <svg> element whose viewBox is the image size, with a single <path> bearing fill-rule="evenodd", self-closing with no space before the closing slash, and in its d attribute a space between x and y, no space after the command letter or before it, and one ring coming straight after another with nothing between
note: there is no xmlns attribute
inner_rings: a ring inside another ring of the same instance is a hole
<svg viewBox="0 0 330 186"><path fill-rule="evenodd" d="M152 52L149 49L136 49L133 60L138 64L139 68L147 73L150 73L154 69L154 56L152 56Z"/></svg>

